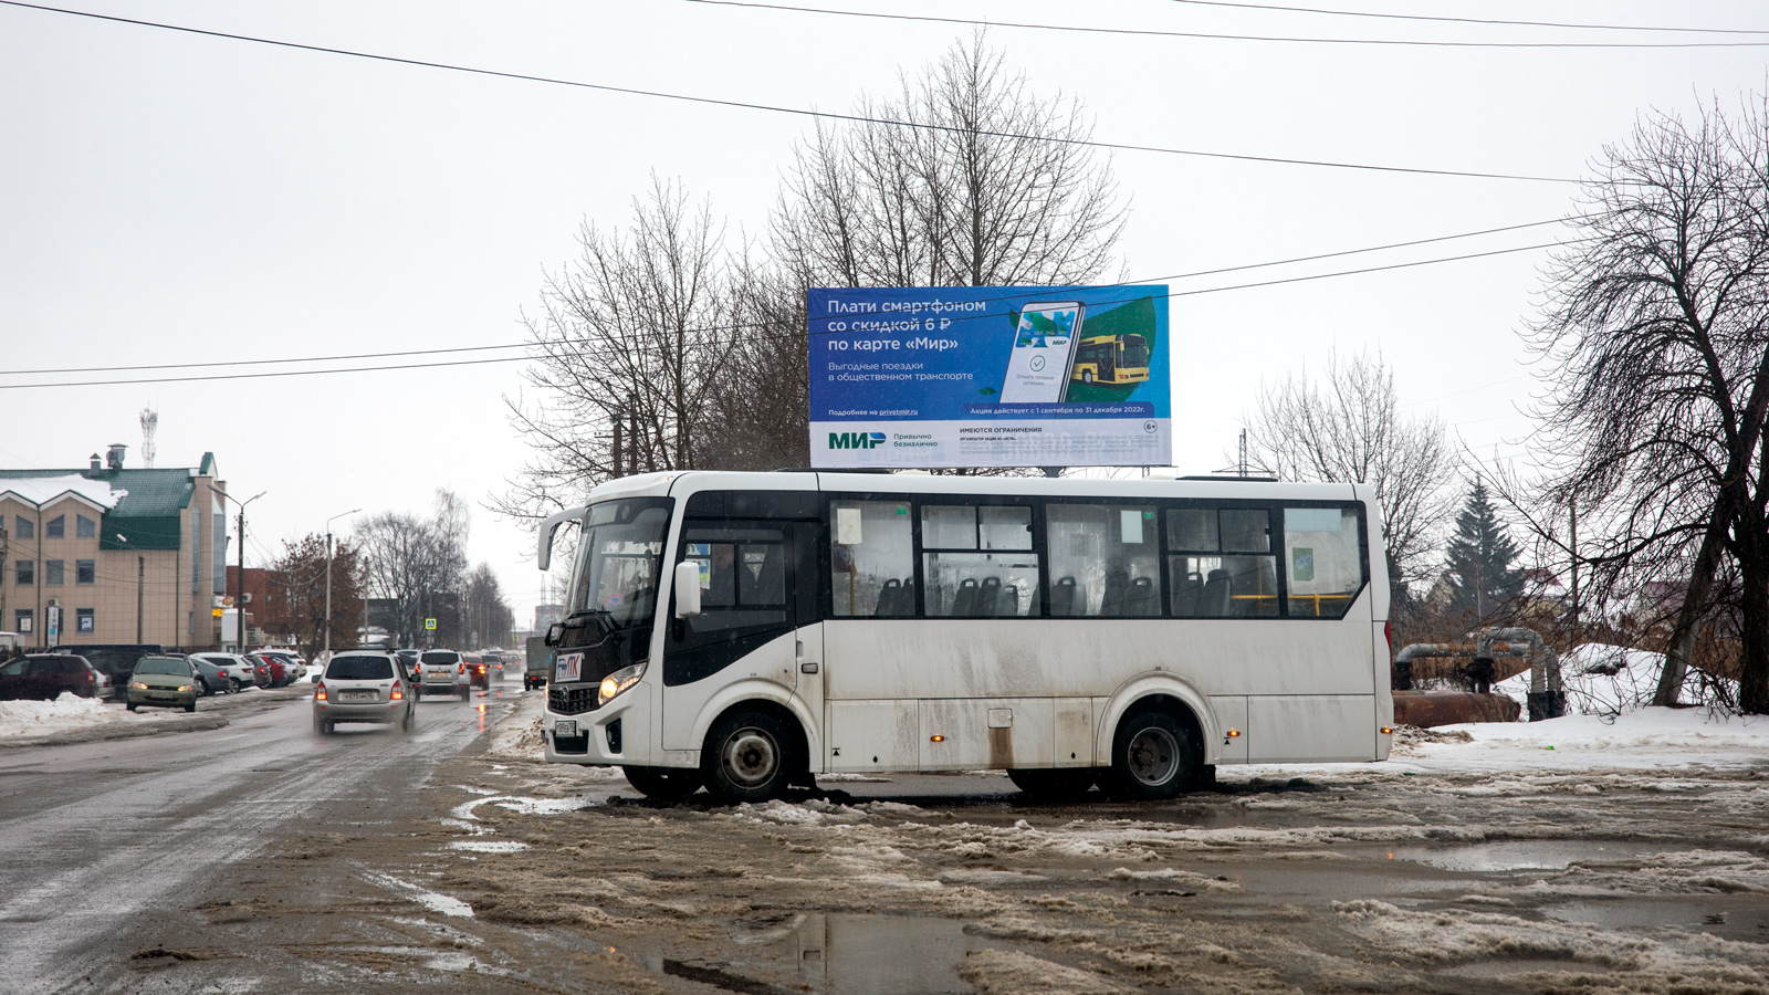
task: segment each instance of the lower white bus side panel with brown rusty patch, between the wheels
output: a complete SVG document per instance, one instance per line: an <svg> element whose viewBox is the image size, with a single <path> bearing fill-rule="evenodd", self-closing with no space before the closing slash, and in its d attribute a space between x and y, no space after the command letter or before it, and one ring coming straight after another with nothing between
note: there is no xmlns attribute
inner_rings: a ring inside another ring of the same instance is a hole
<svg viewBox="0 0 1769 995"><path fill-rule="evenodd" d="M1056 706L1049 698L920 703L922 770L1051 767ZM939 740L934 740L939 737Z"/></svg>

